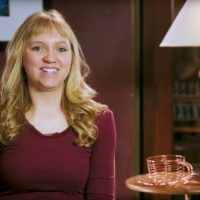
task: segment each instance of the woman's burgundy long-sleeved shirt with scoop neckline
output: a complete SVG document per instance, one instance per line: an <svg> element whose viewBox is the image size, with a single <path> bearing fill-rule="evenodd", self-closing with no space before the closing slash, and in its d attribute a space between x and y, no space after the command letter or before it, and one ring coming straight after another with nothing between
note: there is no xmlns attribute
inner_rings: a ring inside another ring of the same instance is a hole
<svg viewBox="0 0 200 200"><path fill-rule="evenodd" d="M96 119L98 138L74 144L71 127L42 135L26 123L17 139L0 146L0 200L111 200L115 192L113 113Z"/></svg>

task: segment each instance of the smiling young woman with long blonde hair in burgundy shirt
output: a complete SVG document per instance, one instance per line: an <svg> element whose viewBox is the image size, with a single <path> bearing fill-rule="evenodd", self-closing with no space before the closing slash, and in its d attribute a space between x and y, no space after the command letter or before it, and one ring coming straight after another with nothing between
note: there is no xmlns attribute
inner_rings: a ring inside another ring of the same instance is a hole
<svg viewBox="0 0 200 200"><path fill-rule="evenodd" d="M18 28L0 88L0 200L114 199L114 117L88 72L56 10Z"/></svg>

